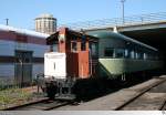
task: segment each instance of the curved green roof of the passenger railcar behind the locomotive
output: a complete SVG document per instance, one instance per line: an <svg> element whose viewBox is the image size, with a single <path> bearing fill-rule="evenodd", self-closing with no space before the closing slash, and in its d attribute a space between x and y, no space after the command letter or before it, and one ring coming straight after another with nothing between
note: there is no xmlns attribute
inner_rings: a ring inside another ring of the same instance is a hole
<svg viewBox="0 0 166 115"><path fill-rule="evenodd" d="M115 33L115 32L111 32L111 31L94 31L94 32L87 32L87 34L94 35L94 36L101 38L101 39L111 39L111 38L122 39L122 40L125 40L125 41L129 41L129 42L139 44L142 46L147 48L147 49L151 49L151 50L154 50L154 51L158 51L157 49L155 49L155 48L153 48L151 45L147 45L147 44L142 43L142 42L139 42L137 40L131 39L131 38L128 38L126 35L121 34L121 33Z"/></svg>

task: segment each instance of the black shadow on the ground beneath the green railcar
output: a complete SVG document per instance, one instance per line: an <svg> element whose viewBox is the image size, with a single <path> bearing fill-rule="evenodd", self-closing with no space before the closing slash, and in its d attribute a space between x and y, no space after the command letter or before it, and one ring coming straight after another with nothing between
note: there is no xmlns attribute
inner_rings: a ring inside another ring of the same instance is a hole
<svg viewBox="0 0 166 115"><path fill-rule="evenodd" d="M134 74L129 81L120 81L120 80L108 80L108 79L89 79L77 81L73 88L73 93L76 94L76 102L83 101L89 102L94 98L102 97L104 95L117 92L122 88L126 88L139 83L143 83L147 80L151 80L152 76L159 76L164 73L157 74L147 74L145 76L141 76L139 74Z"/></svg>

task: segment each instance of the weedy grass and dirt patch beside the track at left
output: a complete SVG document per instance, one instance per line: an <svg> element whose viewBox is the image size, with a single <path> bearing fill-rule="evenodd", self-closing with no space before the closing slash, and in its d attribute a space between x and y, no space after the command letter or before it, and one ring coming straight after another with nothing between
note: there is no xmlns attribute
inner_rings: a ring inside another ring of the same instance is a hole
<svg viewBox="0 0 166 115"><path fill-rule="evenodd" d="M45 93L34 84L22 87L22 84L15 84L12 79L0 77L0 109L21 105L29 101L38 101L43 97L45 97Z"/></svg>

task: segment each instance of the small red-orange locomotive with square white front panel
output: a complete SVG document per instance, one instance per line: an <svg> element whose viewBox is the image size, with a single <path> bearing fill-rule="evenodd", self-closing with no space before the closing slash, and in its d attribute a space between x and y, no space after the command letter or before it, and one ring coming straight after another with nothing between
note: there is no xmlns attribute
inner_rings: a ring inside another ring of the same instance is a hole
<svg viewBox="0 0 166 115"><path fill-rule="evenodd" d="M96 74L97 63L93 62L97 61L97 38L62 28L46 39L46 44L50 45L50 52L44 54L48 96L74 98L76 81Z"/></svg>

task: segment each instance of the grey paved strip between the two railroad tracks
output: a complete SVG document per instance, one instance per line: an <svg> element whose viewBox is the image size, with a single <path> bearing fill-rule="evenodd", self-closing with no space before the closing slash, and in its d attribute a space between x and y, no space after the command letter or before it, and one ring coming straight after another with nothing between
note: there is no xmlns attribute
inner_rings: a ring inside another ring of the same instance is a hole
<svg viewBox="0 0 166 115"><path fill-rule="evenodd" d="M129 98L134 97L139 91L145 88L146 86L157 82L159 80L152 79L145 83L132 86L129 88L123 88L121 91L111 93L106 96L95 98L93 101L81 103L80 105L69 105L58 108L56 111L112 111L115 109L117 106L122 105L124 102L128 101ZM165 94L160 94L162 96ZM153 95L155 98L155 95ZM153 97L152 94L148 97ZM134 111L134 108L133 108Z"/></svg>

